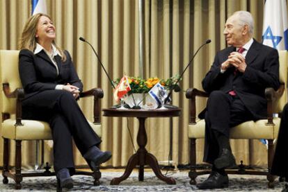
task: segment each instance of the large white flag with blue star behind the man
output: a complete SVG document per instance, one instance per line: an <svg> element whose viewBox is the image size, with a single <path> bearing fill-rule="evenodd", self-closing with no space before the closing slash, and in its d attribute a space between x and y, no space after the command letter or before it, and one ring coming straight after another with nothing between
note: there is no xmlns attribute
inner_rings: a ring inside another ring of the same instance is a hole
<svg viewBox="0 0 288 192"><path fill-rule="evenodd" d="M266 0L262 43L278 50L288 50L287 4L285 0Z"/></svg>

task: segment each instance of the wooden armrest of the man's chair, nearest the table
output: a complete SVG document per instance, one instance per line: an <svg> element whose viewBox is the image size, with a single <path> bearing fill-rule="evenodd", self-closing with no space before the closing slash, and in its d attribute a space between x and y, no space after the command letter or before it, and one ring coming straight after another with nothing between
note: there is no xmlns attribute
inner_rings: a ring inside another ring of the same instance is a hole
<svg viewBox="0 0 288 192"><path fill-rule="evenodd" d="M186 91L186 98L189 99L189 123L195 124L196 123L196 103L195 103L195 97L208 97L209 94L207 94L205 91L200 91L195 88L189 88Z"/></svg>

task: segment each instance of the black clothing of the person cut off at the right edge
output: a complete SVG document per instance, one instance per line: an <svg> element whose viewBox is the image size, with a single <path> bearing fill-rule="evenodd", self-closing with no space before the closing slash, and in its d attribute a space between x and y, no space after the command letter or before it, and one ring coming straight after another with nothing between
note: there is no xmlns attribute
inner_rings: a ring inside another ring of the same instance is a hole
<svg viewBox="0 0 288 192"><path fill-rule="evenodd" d="M281 123L271 174L285 177L285 187L282 192L288 192L288 104L282 110Z"/></svg>

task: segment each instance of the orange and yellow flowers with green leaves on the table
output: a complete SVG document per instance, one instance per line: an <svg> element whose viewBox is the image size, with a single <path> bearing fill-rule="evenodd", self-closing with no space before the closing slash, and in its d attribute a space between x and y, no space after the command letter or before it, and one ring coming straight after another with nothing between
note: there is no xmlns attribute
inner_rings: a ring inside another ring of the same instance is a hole
<svg viewBox="0 0 288 192"><path fill-rule="evenodd" d="M165 87L167 90L175 89L175 91L179 91L180 87L177 83L175 84L179 79L179 75L173 76L171 78L168 78L167 80L159 79L157 77L154 78L140 78L140 77L131 77L128 76L128 82L131 87L131 91L129 91L128 94L134 93L134 94L145 94L154 87L158 82ZM118 85L120 82L120 78L114 80L115 85Z"/></svg>

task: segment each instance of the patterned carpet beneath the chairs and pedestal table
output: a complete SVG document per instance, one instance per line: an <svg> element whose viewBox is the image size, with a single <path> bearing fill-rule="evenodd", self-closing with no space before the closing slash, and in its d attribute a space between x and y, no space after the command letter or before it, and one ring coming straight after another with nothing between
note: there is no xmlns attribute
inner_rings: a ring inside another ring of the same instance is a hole
<svg viewBox="0 0 288 192"><path fill-rule="evenodd" d="M120 172L103 172L100 186L93 186L92 177L74 175L72 177L74 188L69 191L204 191L189 184L188 171L168 172L167 176L175 178L175 185L162 182L152 172L145 172L144 182L139 182L138 173L135 171L119 186L111 186L110 182L113 177L120 177L121 175ZM202 182L206 177L207 175L199 176L197 181ZM227 189L213 191L281 191L282 186L284 186L283 183L276 180L275 188L268 189L265 176L229 175L229 177L230 185ZM0 179L3 179L2 175ZM13 180L9 180L9 183L5 185L1 182L0 191L56 191L55 177L24 177L21 190L15 190L14 184Z"/></svg>

